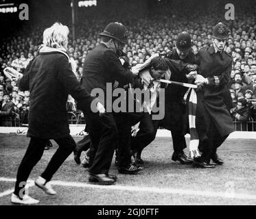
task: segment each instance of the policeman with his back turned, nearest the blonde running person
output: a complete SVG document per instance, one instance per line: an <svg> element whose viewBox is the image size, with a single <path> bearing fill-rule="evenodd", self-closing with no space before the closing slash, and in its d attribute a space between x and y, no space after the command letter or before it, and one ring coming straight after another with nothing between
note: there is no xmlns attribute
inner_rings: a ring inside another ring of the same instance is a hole
<svg viewBox="0 0 256 219"><path fill-rule="evenodd" d="M89 160L89 181L110 185L115 183L117 177L108 175L113 153L118 145L119 127L116 121L120 121L120 114L113 113L112 92L107 93L107 84L119 81L122 84L132 83L132 72L122 66L119 56L121 49L128 43L128 31L121 23L109 23L100 34L101 42L84 60L82 73L82 86L88 92L100 91L98 99L105 104L106 114L99 116L95 112L89 112L86 116L86 127L91 139ZM136 74L136 72L134 72ZM138 72L137 72L138 73ZM91 93L92 94L92 93ZM110 109L109 106L110 105ZM125 166L122 170L137 172L135 166Z"/></svg>

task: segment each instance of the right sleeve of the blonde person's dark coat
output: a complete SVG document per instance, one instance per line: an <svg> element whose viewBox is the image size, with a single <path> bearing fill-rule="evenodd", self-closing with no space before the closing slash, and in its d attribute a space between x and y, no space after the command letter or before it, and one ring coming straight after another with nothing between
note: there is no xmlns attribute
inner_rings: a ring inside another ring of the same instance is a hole
<svg viewBox="0 0 256 219"><path fill-rule="evenodd" d="M84 88L80 86L78 79L76 79L67 57L61 55L58 59L58 80L64 86L68 94L71 94L75 101L80 102L81 110L90 110L91 102L95 97L91 96Z"/></svg>

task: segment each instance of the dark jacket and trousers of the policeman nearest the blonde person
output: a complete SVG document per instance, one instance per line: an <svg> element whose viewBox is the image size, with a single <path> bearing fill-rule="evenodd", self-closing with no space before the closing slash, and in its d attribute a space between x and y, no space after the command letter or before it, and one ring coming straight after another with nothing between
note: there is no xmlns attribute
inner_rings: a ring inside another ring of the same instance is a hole
<svg viewBox="0 0 256 219"><path fill-rule="evenodd" d="M111 83L117 78L124 83L131 83L132 73L121 65L113 51L105 44L99 44L84 61L82 86L90 93L93 88L101 88L105 94L106 108L107 103L112 105L109 96L106 96L106 83ZM100 96L99 99L101 100ZM114 114L107 112L100 117L91 112L89 116L86 116L86 125L93 149L95 149L93 157L90 157L93 164L89 172L108 174L114 149L117 147L117 125Z"/></svg>

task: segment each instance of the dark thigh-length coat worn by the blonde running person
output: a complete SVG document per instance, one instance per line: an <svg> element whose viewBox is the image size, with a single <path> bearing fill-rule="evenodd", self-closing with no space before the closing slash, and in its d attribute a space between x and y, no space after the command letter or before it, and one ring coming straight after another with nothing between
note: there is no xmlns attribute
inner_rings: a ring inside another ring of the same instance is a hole
<svg viewBox="0 0 256 219"><path fill-rule="evenodd" d="M81 88L67 56L57 51L40 53L32 60L19 80L19 88L30 90L29 137L58 139L68 136L68 94L86 110L94 99Z"/></svg>

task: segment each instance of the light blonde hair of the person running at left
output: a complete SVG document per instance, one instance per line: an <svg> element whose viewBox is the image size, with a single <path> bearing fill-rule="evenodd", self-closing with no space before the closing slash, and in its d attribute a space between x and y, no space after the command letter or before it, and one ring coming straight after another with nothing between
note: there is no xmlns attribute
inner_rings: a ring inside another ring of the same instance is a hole
<svg viewBox="0 0 256 219"><path fill-rule="evenodd" d="M69 28L67 26L54 23L43 32L43 44L52 48L67 47L68 35Z"/></svg>

